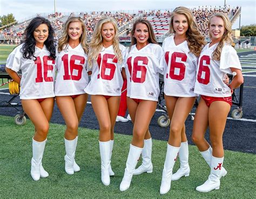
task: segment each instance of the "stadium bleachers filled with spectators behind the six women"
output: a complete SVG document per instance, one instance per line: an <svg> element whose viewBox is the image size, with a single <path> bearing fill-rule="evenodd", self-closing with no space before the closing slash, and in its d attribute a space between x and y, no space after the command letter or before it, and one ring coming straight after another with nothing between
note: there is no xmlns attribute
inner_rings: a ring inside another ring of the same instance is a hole
<svg viewBox="0 0 256 199"><path fill-rule="evenodd" d="M235 20L239 17L241 13L241 8L236 6L235 8L231 9L228 6L199 6L198 8L191 9L193 15L195 16L199 31L202 35L208 34L207 29L207 20L214 12L224 12L230 17L232 24ZM97 21L102 16L109 16L116 19L118 27L119 27L119 35L120 40L127 40L130 37L130 31L134 20L137 18L146 18L152 24L154 34L156 35L158 41L163 41L165 37L170 35L169 33L169 24L170 24L170 16L171 16L171 9L170 10L150 10L150 11L138 11L137 13L125 13L125 12L80 12L75 15L74 12L69 13L68 15L64 15L61 12L56 12L48 15L48 19L50 20L53 28L55 29L56 37L60 37L62 34L62 26L65 23L66 19L70 16L78 16L83 18L85 25L87 27L87 35L90 36L93 33L93 29L97 23ZM39 16L39 15L38 15ZM44 16L44 15L43 15ZM16 38L23 39L24 30L26 25L29 24L31 19L25 20L22 23L18 23L16 25L11 25L8 28L0 30L0 42L5 42L8 44L14 44ZM1 29L1 27L0 27ZM128 36L128 37L127 37ZM130 40L130 39L129 39Z"/></svg>

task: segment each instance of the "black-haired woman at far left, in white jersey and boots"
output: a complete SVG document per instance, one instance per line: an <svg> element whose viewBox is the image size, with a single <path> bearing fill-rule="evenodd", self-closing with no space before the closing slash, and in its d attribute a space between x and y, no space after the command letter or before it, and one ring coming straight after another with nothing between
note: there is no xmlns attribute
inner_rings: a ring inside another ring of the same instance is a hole
<svg viewBox="0 0 256 199"><path fill-rule="evenodd" d="M55 96L56 50L53 33L48 19L32 19L25 29L24 43L14 49L6 62L6 72L21 86L23 109L35 125L31 159L31 176L35 181L49 176L42 166L42 158ZM17 74L19 70L22 77Z"/></svg>

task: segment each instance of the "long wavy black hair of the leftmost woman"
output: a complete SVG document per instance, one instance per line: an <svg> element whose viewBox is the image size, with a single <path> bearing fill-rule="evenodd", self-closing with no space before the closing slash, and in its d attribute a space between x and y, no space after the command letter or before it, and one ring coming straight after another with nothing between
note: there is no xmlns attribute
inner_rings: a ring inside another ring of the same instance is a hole
<svg viewBox="0 0 256 199"><path fill-rule="evenodd" d="M48 26L49 35L48 35L48 38L44 41L44 45L50 52L49 57L51 59L56 58L56 49L53 41L54 30L51 26L50 21L43 17L35 17L31 20L31 22L29 23L28 27L26 27L24 32L25 41L24 41L24 46L22 47L22 50L23 50L23 58L25 59L36 60L36 56L35 56L36 39L33 36L33 32L41 24L46 24Z"/></svg>

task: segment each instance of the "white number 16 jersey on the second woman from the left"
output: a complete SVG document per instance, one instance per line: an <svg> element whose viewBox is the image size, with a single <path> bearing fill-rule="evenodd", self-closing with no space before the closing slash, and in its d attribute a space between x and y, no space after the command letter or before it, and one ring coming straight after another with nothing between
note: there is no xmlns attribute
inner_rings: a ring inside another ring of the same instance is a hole
<svg viewBox="0 0 256 199"><path fill-rule="evenodd" d="M75 48L69 45L56 56L57 76L55 95L68 96L84 94L89 79L86 72L87 55L81 44Z"/></svg>

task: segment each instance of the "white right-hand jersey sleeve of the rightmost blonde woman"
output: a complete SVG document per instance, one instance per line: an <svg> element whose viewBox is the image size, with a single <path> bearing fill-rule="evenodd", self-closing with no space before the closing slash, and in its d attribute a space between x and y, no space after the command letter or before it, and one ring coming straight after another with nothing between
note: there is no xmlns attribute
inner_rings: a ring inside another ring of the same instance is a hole
<svg viewBox="0 0 256 199"><path fill-rule="evenodd" d="M232 74L230 68L242 69L237 52L232 46L225 45L220 55L220 70Z"/></svg>

